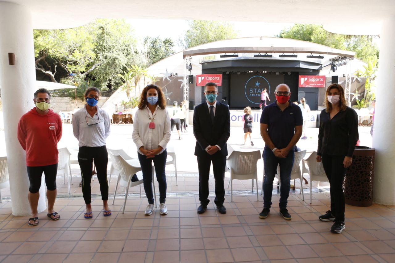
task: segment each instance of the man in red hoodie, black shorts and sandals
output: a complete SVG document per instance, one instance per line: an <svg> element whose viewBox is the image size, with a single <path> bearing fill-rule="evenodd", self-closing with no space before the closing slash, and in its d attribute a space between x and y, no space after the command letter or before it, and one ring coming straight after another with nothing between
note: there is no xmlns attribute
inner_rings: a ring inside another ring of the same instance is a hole
<svg viewBox="0 0 395 263"><path fill-rule="evenodd" d="M38 199L40 198L41 176L47 185L48 214L58 220L59 214L53 206L56 199L56 173L58 170L58 141L62 137L62 120L49 109L51 93L40 88L34 93L36 107L24 114L18 123L18 140L26 151L26 166L30 181L28 199L32 217L28 225L38 225Z"/></svg>

